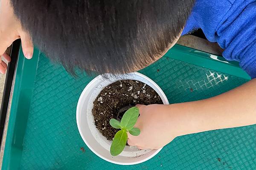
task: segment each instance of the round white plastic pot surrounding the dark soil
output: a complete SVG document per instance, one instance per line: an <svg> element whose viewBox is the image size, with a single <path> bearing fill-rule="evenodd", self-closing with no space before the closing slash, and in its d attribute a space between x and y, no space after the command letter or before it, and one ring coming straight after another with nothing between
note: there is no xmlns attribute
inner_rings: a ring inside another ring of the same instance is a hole
<svg viewBox="0 0 256 170"><path fill-rule="evenodd" d="M149 85L153 88L157 94L161 97L164 104L169 104L166 95L161 88L153 82L153 80L140 73L127 74L124 77L112 77L110 79L104 79L102 76L98 76L93 79L81 93L77 108L76 108L76 122L79 129L79 133L84 140L87 147L93 151L100 158L112 162L114 164L131 165L139 164L155 156L161 149L158 150L138 150L137 147L125 146L125 149L118 156L111 156L110 146L111 141L108 141L106 137L102 136L99 130L94 125L94 119L92 115L93 101L99 95L100 91L107 85L122 79L138 80Z"/></svg>

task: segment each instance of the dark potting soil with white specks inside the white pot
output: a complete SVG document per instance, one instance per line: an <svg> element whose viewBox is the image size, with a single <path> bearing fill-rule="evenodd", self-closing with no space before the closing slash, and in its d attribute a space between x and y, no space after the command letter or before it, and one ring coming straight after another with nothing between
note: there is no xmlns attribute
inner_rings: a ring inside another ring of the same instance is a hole
<svg viewBox="0 0 256 170"><path fill-rule="evenodd" d="M129 108L137 105L163 104L153 88L143 82L121 80L106 86L93 102L93 116L97 129L108 140L112 140L118 131L111 127L109 120L120 121Z"/></svg>

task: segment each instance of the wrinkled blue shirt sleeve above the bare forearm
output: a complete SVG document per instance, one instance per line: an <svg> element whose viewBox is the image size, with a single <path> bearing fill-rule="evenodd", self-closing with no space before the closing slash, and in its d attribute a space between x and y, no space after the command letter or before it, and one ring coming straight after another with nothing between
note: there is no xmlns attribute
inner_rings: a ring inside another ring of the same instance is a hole
<svg viewBox="0 0 256 170"><path fill-rule="evenodd" d="M225 15L216 29L223 57L239 61L252 78L256 78L256 1L241 3Z"/></svg>

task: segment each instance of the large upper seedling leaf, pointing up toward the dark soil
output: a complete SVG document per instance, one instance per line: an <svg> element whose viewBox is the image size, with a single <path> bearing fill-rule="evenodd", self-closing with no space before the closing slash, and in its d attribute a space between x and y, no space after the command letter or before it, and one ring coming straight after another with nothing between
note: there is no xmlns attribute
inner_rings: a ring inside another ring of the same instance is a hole
<svg viewBox="0 0 256 170"><path fill-rule="evenodd" d="M131 130L137 122L139 116L139 109L132 107L125 112L121 119L121 127L127 130Z"/></svg>

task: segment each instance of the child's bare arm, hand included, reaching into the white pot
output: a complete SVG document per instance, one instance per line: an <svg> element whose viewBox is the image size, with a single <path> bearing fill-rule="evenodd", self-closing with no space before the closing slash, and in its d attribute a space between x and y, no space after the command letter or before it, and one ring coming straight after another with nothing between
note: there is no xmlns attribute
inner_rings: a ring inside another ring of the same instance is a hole
<svg viewBox="0 0 256 170"><path fill-rule="evenodd" d="M157 149L175 137L256 124L256 79L210 99L172 105L139 105L139 136L128 144Z"/></svg>

